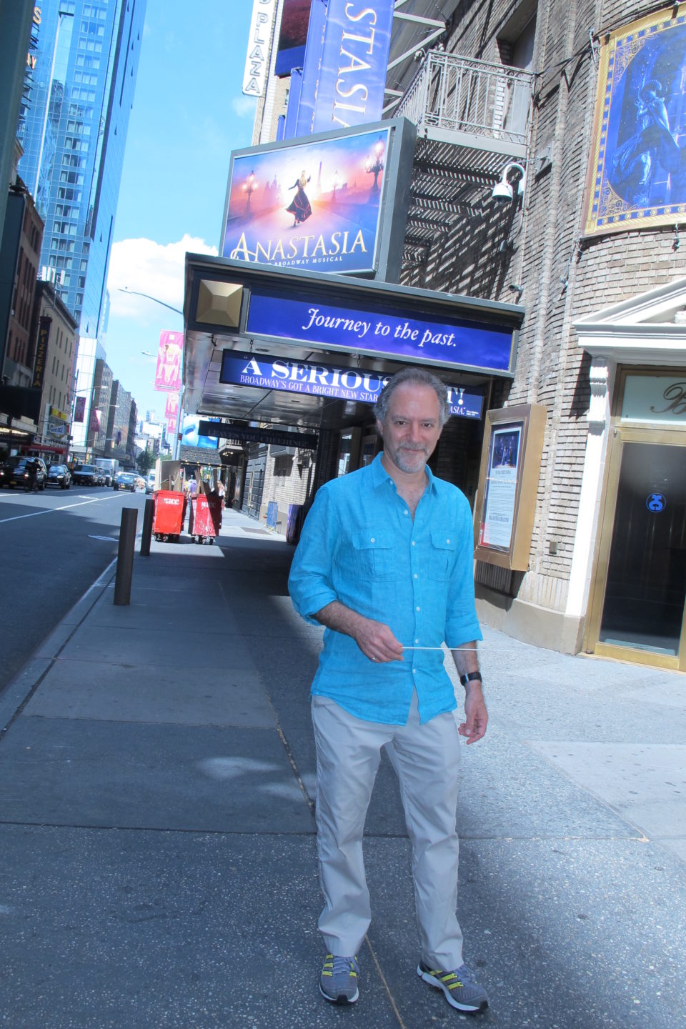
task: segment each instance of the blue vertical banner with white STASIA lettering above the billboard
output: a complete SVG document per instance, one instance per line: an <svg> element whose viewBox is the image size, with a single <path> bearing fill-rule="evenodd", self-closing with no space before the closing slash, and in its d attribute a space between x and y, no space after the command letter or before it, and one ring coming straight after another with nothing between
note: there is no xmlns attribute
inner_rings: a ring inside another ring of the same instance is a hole
<svg viewBox="0 0 686 1029"><path fill-rule="evenodd" d="M381 118L393 8L394 0L329 0L313 133Z"/></svg>

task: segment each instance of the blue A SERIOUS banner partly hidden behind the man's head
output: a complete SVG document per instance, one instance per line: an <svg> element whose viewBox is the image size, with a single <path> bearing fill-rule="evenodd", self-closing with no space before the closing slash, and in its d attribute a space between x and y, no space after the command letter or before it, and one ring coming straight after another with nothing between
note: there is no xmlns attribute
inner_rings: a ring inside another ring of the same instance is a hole
<svg viewBox="0 0 686 1029"><path fill-rule="evenodd" d="M268 354L240 354L234 350L224 350L219 374L221 383L361 403L375 403L389 378L363 368L293 361ZM462 418L481 417L483 396L478 392L448 385L447 400L452 415Z"/></svg>

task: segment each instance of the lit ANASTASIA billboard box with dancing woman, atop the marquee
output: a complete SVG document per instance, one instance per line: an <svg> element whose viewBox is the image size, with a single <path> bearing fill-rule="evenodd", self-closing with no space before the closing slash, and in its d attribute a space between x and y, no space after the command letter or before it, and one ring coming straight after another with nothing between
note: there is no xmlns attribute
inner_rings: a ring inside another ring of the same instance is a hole
<svg viewBox="0 0 686 1029"><path fill-rule="evenodd" d="M221 256L397 282L416 138L397 118L233 151Z"/></svg>

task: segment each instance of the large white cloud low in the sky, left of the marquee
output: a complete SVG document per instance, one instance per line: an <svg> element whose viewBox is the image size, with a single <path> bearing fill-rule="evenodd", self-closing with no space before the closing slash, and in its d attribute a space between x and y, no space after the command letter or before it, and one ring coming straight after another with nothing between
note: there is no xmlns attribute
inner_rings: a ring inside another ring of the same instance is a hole
<svg viewBox="0 0 686 1029"><path fill-rule="evenodd" d="M184 235L178 243L164 246L154 240L120 240L112 244L107 288L111 313L145 324L159 315L159 305L135 293L147 293L172 308L183 308L184 263L186 251L217 254L217 248L205 240ZM121 290L131 290L127 295Z"/></svg>

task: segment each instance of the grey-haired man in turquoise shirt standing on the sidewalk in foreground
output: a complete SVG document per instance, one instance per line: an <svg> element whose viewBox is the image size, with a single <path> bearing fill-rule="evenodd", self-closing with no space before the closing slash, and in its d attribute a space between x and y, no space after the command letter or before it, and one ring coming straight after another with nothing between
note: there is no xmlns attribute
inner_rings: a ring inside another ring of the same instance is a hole
<svg viewBox="0 0 686 1029"><path fill-rule="evenodd" d="M427 467L448 416L445 386L422 368L389 381L375 407L384 452L317 493L293 558L297 611L326 626L312 685L317 846L334 1003L358 999L357 954L371 912L362 832L381 748L393 744L412 845L418 974L462 1012L488 1007L463 963L457 920L459 735L485 733L474 609L472 520ZM446 642L466 687L458 729Z"/></svg>

